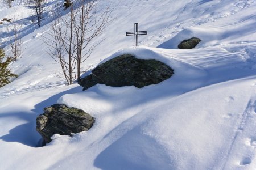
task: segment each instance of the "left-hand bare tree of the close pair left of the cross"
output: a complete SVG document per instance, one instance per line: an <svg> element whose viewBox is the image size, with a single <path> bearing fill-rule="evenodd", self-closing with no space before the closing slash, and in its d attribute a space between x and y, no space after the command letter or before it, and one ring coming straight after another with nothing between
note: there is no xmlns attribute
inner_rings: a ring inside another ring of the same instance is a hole
<svg viewBox="0 0 256 170"><path fill-rule="evenodd" d="M73 36L73 24L75 22L74 10L68 16L61 16L60 10L56 12L56 19L52 22L50 30L43 41L48 45L48 54L60 64L65 80L73 84L75 80L73 71L76 66L76 43Z"/></svg>

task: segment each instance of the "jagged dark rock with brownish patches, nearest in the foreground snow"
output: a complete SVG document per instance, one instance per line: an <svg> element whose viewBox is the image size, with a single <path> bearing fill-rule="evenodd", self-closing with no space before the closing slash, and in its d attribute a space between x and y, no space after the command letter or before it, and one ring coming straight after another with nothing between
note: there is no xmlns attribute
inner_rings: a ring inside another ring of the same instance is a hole
<svg viewBox="0 0 256 170"><path fill-rule="evenodd" d="M36 130L46 143L51 142L53 134L71 135L89 130L94 118L84 111L55 104L44 108L44 113L36 118Z"/></svg>

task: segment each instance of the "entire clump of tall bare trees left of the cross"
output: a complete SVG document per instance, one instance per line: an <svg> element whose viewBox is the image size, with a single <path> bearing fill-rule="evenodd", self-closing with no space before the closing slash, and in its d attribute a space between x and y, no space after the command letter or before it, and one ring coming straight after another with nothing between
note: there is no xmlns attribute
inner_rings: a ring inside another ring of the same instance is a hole
<svg viewBox="0 0 256 170"><path fill-rule="evenodd" d="M81 64L98 44L92 41L104 31L111 13L109 7L104 12L96 12L96 0L76 2L71 1L68 17L55 15L57 18L48 35L43 37L49 46L49 54L60 63L68 84L80 80Z"/></svg>

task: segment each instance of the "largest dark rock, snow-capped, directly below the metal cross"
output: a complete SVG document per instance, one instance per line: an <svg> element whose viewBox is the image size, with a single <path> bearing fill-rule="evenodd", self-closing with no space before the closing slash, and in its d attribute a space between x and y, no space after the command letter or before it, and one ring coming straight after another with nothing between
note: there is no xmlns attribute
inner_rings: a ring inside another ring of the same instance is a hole
<svg viewBox="0 0 256 170"><path fill-rule="evenodd" d="M107 86L144 87L157 84L174 74L166 64L155 59L137 59L130 54L115 57L92 70L79 84L86 90L97 83Z"/></svg>

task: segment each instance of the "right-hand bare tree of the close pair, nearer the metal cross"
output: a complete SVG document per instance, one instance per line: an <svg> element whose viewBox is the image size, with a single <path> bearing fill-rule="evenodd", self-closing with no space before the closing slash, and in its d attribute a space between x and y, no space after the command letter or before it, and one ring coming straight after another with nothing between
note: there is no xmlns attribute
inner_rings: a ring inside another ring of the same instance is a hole
<svg viewBox="0 0 256 170"><path fill-rule="evenodd" d="M96 12L96 0L88 1L81 0L80 12L76 13L76 22L74 25L74 32L76 37L76 59L77 59L77 80L81 76L81 63L92 54L94 47L92 41L106 28L109 16L111 14L110 8L98 13Z"/></svg>

